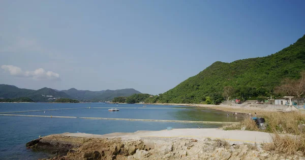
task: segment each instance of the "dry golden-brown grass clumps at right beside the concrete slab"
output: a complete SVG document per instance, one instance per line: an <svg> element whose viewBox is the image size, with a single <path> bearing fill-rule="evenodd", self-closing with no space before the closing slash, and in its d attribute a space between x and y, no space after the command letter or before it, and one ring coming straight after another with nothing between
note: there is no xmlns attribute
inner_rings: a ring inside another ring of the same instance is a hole
<svg viewBox="0 0 305 160"><path fill-rule="evenodd" d="M272 133L272 142L263 144L263 149L276 151L281 154L295 154L297 151L305 154L305 133L298 129L298 125L305 124L305 115L300 112L261 112L258 117L265 118L267 128L263 132ZM240 124L224 126L224 130L258 131L255 122L245 116ZM262 131L262 130L260 130Z"/></svg>

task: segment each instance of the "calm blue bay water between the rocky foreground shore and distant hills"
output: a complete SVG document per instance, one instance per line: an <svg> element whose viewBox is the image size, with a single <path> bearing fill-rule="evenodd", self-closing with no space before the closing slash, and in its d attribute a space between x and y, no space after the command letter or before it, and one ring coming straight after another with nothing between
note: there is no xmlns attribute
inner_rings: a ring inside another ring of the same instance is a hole
<svg viewBox="0 0 305 160"><path fill-rule="evenodd" d="M87 108L87 107L90 107ZM101 107L101 108L96 108ZM105 108L102 108L105 107ZM109 112L109 108L119 108L118 112ZM31 111L10 114L53 115L78 117L111 117L134 119L168 119L187 121L238 122L242 116L233 117L232 113L212 109L184 106L143 105L140 104L104 104L104 103L0 103L0 112L47 110L60 108L80 108L69 110ZM185 109L187 108L187 109ZM43 152L34 152L25 148L25 143L39 136L64 132L82 132L107 134L112 132L136 132L139 130L164 130L173 128L218 128L221 125L201 123L117 121L80 118L47 118L0 115L0 157L2 159L38 159L51 157Z"/></svg>

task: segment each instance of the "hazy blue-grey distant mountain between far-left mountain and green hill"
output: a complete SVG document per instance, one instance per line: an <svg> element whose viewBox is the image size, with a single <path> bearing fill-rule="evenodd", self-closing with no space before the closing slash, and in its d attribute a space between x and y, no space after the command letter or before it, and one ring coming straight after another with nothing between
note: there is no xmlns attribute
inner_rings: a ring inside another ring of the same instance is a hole
<svg viewBox="0 0 305 160"><path fill-rule="evenodd" d="M141 93L135 89L122 89L122 90L102 90L102 91L88 91L77 90L71 88L69 90L63 90L67 95L80 101L108 101L114 97L131 96L133 94Z"/></svg>

